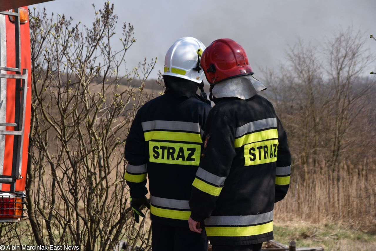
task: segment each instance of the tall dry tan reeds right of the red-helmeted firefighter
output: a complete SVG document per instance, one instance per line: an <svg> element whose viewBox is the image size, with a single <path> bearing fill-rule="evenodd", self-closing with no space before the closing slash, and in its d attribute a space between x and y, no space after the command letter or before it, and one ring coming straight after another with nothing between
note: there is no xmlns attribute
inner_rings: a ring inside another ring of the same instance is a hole
<svg viewBox="0 0 376 251"><path fill-rule="evenodd" d="M343 223L376 233L376 165L341 164L293 170L290 190L275 207L280 221Z"/></svg>

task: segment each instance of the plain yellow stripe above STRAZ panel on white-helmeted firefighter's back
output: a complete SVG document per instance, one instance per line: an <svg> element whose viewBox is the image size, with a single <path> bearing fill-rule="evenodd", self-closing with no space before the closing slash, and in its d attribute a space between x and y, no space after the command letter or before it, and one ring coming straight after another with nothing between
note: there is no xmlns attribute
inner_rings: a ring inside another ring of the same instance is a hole
<svg viewBox="0 0 376 251"><path fill-rule="evenodd" d="M144 133L145 141L173 140L202 143L200 133L152 131Z"/></svg>

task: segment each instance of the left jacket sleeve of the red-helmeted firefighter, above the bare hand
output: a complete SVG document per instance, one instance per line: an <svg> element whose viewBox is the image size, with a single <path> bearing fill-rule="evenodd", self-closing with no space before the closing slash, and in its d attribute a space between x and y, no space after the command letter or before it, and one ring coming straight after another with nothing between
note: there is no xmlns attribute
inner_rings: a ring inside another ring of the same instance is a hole
<svg viewBox="0 0 376 251"><path fill-rule="evenodd" d="M209 217L229 174L235 157L235 127L218 109L209 112L200 167L192 184L191 218L202 221Z"/></svg>

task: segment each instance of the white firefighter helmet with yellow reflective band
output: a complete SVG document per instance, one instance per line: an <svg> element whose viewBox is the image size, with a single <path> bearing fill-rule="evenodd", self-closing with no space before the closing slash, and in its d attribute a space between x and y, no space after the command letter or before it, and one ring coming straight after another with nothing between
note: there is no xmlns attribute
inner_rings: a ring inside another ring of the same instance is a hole
<svg viewBox="0 0 376 251"><path fill-rule="evenodd" d="M196 38L179 38L166 53L163 75L201 83L205 75L199 58L204 50L205 45Z"/></svg>

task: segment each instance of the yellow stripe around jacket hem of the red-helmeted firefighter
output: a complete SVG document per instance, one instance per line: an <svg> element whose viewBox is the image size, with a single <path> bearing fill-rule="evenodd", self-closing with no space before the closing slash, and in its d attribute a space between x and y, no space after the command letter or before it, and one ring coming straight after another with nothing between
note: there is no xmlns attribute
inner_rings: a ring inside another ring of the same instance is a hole
<svg viewBox="0 0 376 251"><path fill-rule="evenodd" d="M207 236L253 236L273 231L273 222L248 227L205 227Z"/></svg>

